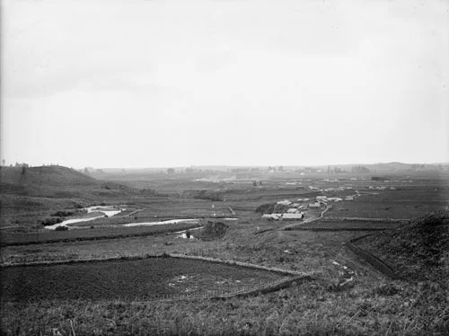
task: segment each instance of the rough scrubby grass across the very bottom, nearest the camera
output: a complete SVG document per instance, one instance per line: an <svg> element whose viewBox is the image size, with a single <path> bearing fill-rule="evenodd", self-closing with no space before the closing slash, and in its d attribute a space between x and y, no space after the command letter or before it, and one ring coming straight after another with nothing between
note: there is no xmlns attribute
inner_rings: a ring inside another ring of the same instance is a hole
<svg viewBox="0 0 449 336"><path fill-rule="evenodd" d="M227 301L41 301L2 304L4 335L447 334L449 296L426 282L314 281Z"/></svg>

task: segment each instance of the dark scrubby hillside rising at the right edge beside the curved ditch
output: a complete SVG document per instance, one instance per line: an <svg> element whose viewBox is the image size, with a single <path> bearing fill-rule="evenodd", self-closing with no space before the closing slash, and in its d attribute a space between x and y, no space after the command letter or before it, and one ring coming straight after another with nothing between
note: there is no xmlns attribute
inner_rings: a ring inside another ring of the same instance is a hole
<svg viewBox="0 0 449 336"><path fill-rule="evenodd" d="M374 234L357 245L394 265L412 280L449 279L449 209L418 217L393 231Z"/></svg>

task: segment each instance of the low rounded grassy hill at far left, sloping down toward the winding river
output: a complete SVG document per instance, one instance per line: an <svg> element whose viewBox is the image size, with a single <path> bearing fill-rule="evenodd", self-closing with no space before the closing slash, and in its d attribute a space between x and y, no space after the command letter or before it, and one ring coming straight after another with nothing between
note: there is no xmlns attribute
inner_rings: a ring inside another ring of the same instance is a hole
<svg viewBox="0 0 449 336"><path fill-rule="evenodd" d="M49 211L83 208L90 204L124 203L154 195L62 166L1 167L0 217L2 226L36 225Z"/></svg>

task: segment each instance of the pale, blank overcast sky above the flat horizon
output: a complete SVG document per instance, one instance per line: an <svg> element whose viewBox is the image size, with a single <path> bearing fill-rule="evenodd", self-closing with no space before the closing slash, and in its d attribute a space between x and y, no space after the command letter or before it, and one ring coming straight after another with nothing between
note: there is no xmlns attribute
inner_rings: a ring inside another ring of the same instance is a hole
<svg viewBox="0 0 449 336"><path fill-rule="evenodd" d="M449 162L449 1L4 0L6 164Z"/></svg>

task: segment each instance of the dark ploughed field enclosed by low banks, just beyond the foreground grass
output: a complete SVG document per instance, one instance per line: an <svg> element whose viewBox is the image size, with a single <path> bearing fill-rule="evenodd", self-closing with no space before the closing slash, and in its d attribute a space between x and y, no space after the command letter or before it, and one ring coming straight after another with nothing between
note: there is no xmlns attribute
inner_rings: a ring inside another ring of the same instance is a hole
<svg viewBox="0 0 449 336"><path fill-rule="evenodd" d="M3 301L145 299L260 285L277 273L178 258L92 261L1 270Z"/></svg>

